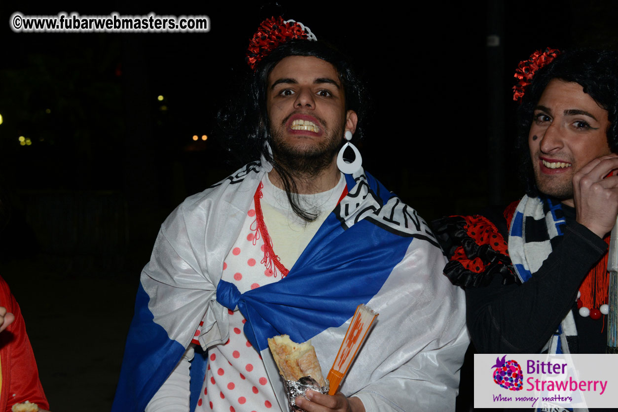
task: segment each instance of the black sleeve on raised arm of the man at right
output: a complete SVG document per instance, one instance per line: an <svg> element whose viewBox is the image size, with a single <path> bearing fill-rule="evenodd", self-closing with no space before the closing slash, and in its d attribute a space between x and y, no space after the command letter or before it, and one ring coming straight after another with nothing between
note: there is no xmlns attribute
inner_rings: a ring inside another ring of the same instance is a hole
<svg viewBox="0 0 618 412"><path fill-rule="evenodd" d="M476 351L538 353L606 250L603 239L572 222L528 282L503 285L501 277L494 276L486 287L466 288L467 324Z"/></svg>

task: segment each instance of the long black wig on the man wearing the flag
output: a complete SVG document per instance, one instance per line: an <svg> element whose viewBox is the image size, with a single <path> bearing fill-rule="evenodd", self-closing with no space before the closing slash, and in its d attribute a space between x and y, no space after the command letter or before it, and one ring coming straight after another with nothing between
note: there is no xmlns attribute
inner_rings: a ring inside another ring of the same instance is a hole
<svg viewBox="0 0 618 412"><path fill-rule="evenodd" d="M349 59L324 41L291 40L274 49L260 61L255 72L245 79L239 95L219 111L218 128L219 133L227 139L227 150L235 158L249 162L262 154L271 162L281 177L292 210L306 221L313 221L317 216L303 210L298 204L297 185L292 175L265 150L265 142L270 139L270 122L266 111L268 75L277 63L288 56L313 56L333 65L344 89L345 110L353 110L358 116L353 141L363 138L365 114L370 106L365 83L357 76Z"/></svg>

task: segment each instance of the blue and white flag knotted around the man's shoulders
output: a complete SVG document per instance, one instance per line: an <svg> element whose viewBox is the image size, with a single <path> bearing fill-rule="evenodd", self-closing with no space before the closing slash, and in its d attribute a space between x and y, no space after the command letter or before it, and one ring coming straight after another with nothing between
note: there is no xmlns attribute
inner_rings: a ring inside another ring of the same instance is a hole
<svg viewBox="0 0 618 412"><path fill-rule="evenodd" d="M266 171L260 162L248 164L187 198L164 222L142 273L112 410L145 409L204 314L201 347L225 343L227 308L247 319L245 335L287 410L267 338L311 339L326 374L360 303L379 317L341 392L361 398L368 411L454 410L468 345L463 292L442 275L446 259L425 221L362 169L345 175L347 196L287 277L242 294L221 280ZM201 385L198 363L192 382Z"/></svg>

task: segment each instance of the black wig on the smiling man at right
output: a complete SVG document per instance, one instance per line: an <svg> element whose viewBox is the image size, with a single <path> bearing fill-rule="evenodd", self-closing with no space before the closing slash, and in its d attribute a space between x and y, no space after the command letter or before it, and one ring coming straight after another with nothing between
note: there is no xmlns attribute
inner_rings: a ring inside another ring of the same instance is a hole
<svg viewBox="0 0 618 412"><path fill-rule="evenodd" d="M566 51L535 74L517 112L517 149L522 159L520 176L528 196L538 196L528 150L528 133L536 104L554 78L580 84L584 93L607 111L607 143L613 153L618 153L618 53L595 49Z"/></svg>

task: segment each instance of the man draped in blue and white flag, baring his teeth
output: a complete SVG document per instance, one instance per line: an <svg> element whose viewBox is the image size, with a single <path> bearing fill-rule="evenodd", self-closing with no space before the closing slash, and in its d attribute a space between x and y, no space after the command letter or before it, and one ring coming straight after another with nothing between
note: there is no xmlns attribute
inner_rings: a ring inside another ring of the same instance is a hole
<svg viewBox="0 0 618 412"><path fill-rule="evenodd" d="M452 411L468 345L462 292L441 275L423 219L349 143L362 135L362 83L341 53L281 18L261 24L248 62L247 96L221 124L252 162L164 222L114 410L287 410L268 338L311 339L326 377L366 304L379 316L339 391L291 401L310 412ZM362 342L358 327L342 355Z"/></svg>

